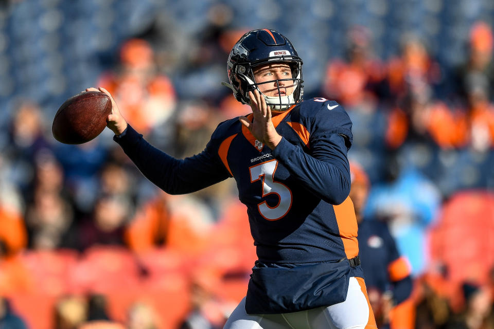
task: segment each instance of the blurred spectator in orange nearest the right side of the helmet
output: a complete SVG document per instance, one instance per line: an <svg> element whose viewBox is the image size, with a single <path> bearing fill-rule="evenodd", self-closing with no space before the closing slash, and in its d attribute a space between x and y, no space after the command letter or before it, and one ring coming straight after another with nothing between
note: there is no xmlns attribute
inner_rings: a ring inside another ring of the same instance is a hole
<svg viewBox="0 0 494 329"><path fill-rule="evenodd" d="M323 95L351 109L379 95L384 66L371 53L371 35L363 26L348 33L346 58L329 63L323 82Z"/></svg>

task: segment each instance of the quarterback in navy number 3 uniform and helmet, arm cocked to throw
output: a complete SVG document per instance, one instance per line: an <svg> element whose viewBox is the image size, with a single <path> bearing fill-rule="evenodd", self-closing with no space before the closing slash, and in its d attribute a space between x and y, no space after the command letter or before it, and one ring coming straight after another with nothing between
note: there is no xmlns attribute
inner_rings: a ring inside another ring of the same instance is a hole
<svg viewBox="0 0 494 329"><path fill-rule="evenodd" d="M175 159L153 148L113 102L114 140L170 194L236 180L258 260L225 328L376 327L348 197L348 115L337 102L303 100L302 60L275 30L245 33L227 70L223 84L252 113L221 122L202 153Z"/></svg>

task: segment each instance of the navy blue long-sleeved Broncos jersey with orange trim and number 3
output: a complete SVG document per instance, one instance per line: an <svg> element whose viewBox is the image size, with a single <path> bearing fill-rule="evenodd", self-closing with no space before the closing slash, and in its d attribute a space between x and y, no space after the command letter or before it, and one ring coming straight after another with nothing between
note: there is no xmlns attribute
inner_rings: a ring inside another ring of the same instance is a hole
<svg viewBox="0 0 494 329"><path fill-rule="evenodd" d="M252 114L248 116L252 118ZM357 221L348 197L351 121L341 105L305 100L273 117L283 137L274 150L238 118L221 122L203 152L174 159L132 127L115 140L154 184L170 194L200 190L228 177L247 206L260 262L303 264L358 255ZM362 277L361 268L352 276Z"/></svg>

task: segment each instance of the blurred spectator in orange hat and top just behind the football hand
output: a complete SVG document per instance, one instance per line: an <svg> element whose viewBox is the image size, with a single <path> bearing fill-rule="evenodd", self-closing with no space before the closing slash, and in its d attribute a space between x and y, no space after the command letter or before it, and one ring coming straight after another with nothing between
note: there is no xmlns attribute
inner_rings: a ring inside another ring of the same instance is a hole
<svg viewBox="0 0 494 329"><path fill-rule="evenodd" d="M144 135L153 129L168 130L175 111L175 90L170 79L159 75L154 50L142 39L131 39L120 48L119 67L101 76L97 85L106 88L121 106L122 115Z"/></svg>

